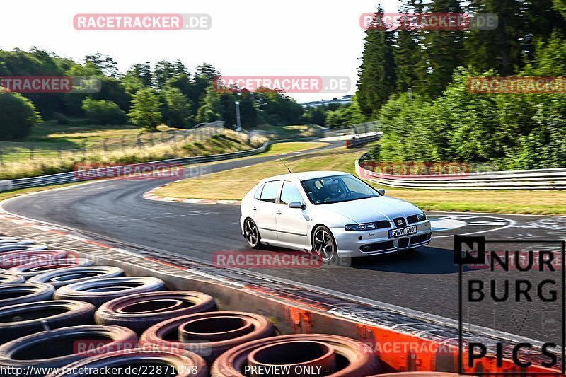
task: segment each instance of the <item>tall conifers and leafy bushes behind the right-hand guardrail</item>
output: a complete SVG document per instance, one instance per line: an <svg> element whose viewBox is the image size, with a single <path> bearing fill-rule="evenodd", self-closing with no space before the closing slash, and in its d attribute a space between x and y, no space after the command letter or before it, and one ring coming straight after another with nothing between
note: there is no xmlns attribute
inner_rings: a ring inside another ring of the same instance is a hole
<svg viewBox="0 0 566 377"><path fill-rule="evenodd" d="M357 117L382 161L566 166L566 94L470 93L476 76L564 76L564 0L407 0L400 13L495 13L494 30L366 30ZM383 19L377 7L374 18ZM409 93L409 91L411 93Z"/></svg>

